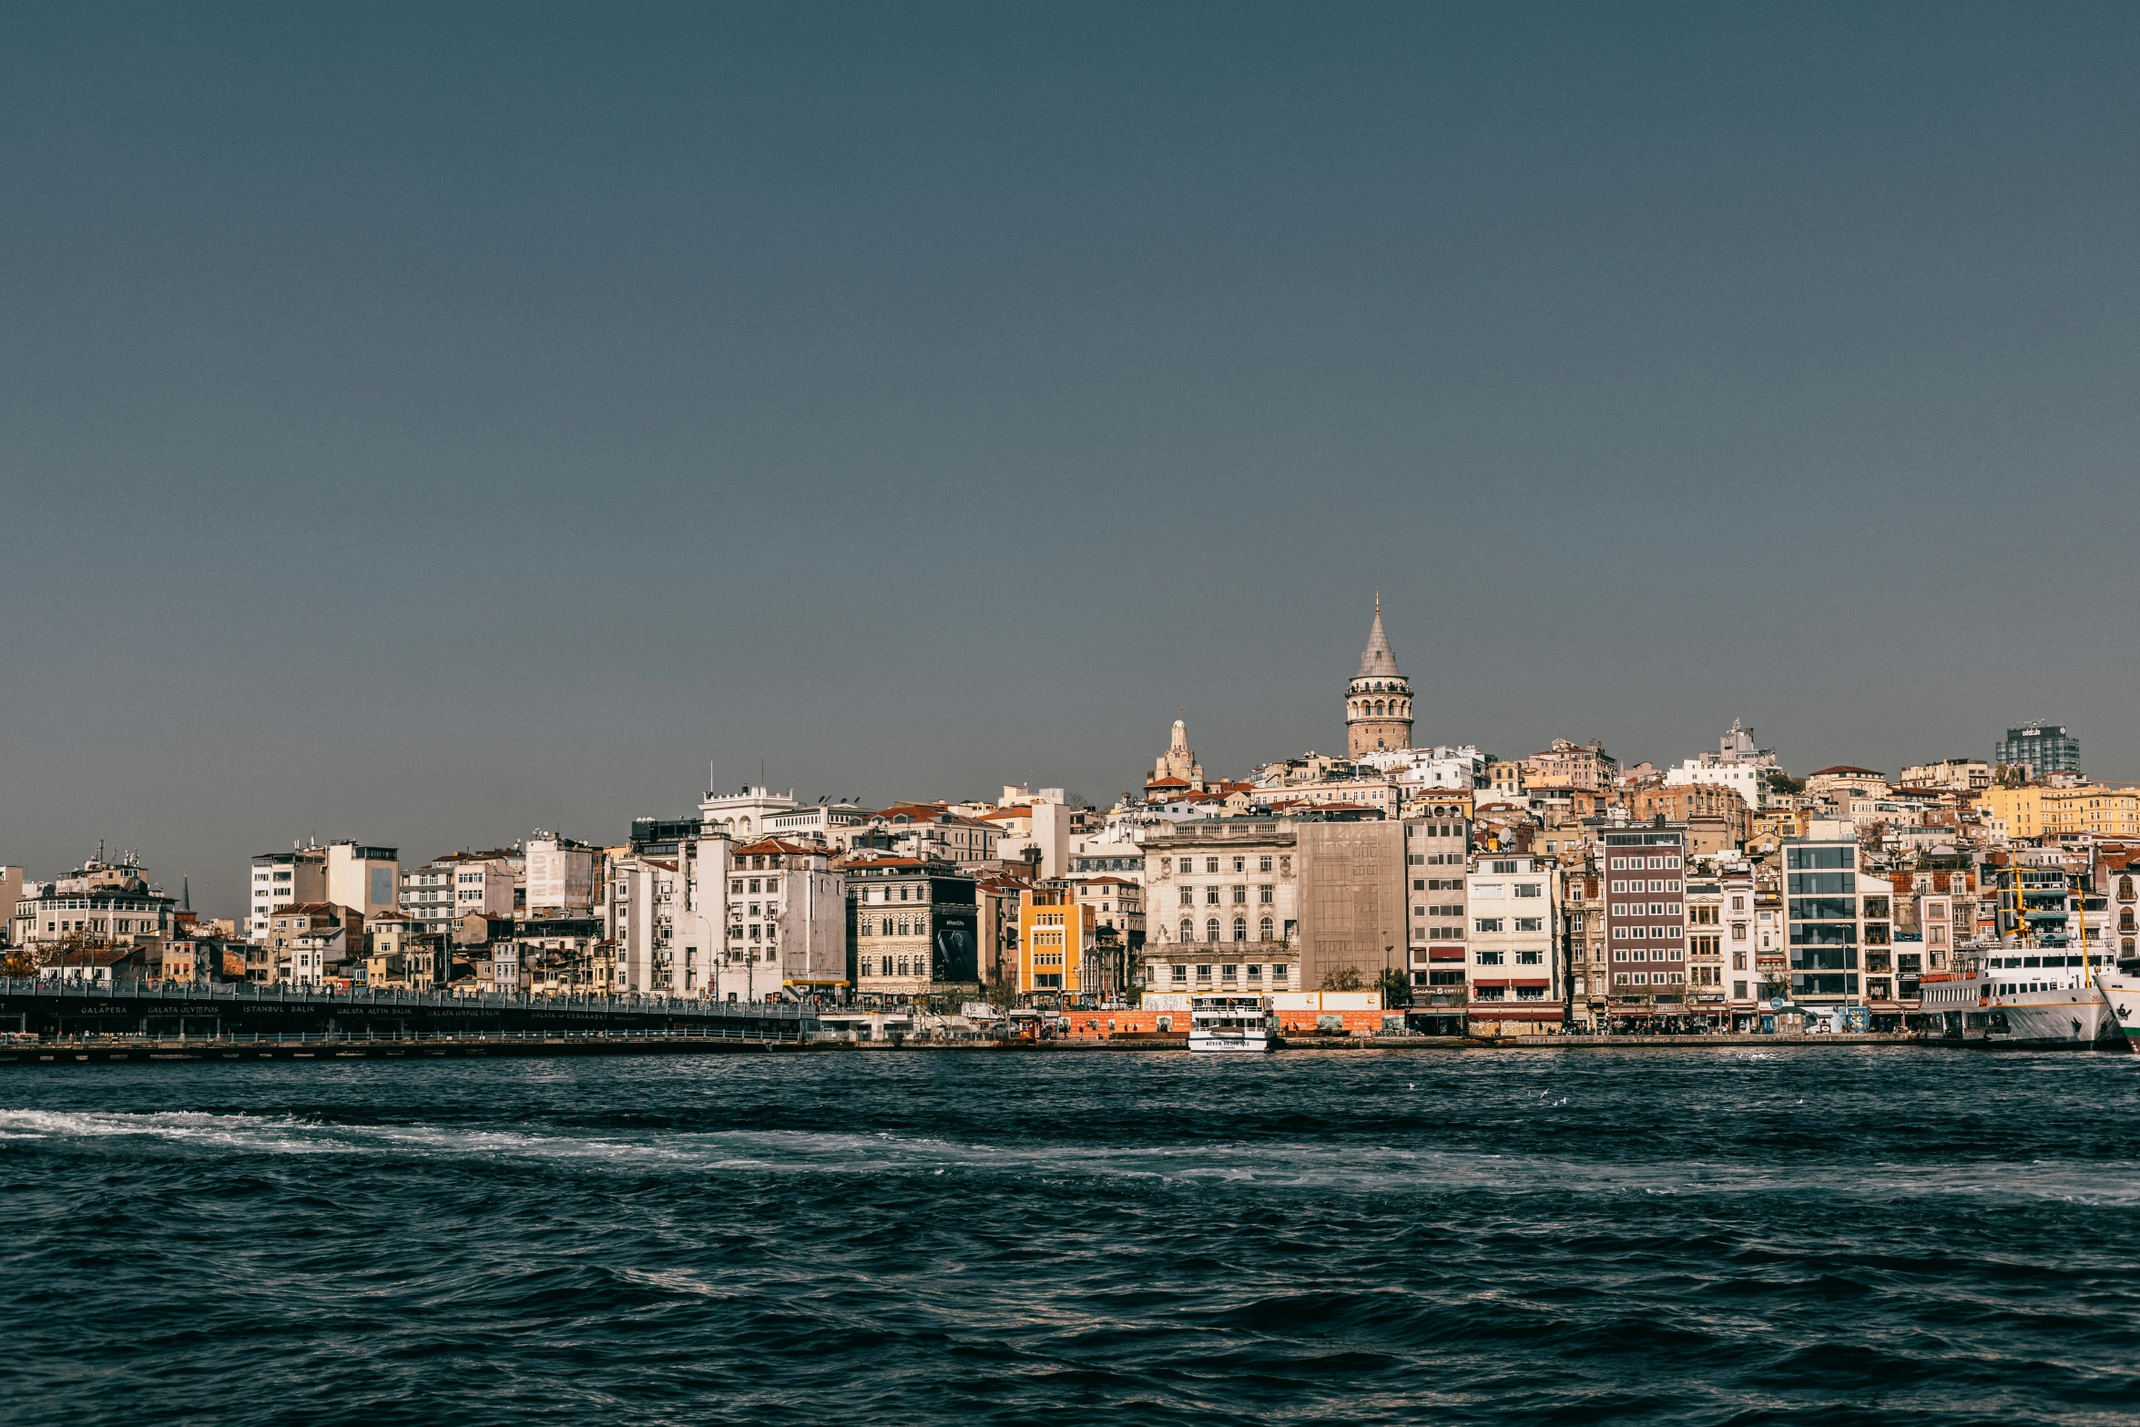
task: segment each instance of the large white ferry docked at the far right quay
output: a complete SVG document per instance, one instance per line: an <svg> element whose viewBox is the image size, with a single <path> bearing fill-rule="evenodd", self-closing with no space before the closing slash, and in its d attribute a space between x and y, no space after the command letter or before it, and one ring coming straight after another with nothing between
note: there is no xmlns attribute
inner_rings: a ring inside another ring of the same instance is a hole
<svg viewBox="0 0 2140 1427"><path fill-rule="evenodd" d="M1939 1012L1952 1038L2016 1048L2086 1048L2116 1038L2119 1023L2104 995L2108 978L2116 976L2108 961L2059 948L1990 948L1975 971L1920 980L1920 1006ZM2134 1018L2140 1021L2140 1010Z"/></svg>

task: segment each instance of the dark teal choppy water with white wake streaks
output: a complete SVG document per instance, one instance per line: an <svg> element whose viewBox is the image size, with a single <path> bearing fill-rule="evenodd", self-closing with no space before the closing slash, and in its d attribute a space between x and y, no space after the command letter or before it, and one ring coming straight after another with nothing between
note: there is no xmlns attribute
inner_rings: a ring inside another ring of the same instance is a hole
<svg viewBox="0 0 2140 1427"><path fill-rule="evenodd" d="M2108 1055L0 1070L0 1401L2129 1423L2136 1170Z"/></svg>

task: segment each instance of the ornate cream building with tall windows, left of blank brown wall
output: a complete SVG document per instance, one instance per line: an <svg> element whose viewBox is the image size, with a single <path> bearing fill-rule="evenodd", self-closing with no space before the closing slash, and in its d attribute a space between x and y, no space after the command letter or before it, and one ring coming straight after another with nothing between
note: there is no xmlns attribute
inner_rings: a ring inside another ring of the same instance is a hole
<svg viewBox="0 0 2140 1427"><path fill-rule="evenodd" d="M1391 824L1395 826L1395 824ZM1145 991L1293 991L1299 976L1297 828L1196 817L1145 832Z"/></svg>

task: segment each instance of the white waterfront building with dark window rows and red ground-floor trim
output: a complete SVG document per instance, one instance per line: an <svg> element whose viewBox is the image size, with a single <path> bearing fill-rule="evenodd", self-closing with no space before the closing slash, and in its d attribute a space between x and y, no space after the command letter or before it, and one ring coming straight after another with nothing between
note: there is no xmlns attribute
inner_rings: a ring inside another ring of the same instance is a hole
<svg viewBox="0 0 2140 1427"><path fill-rule="evenodd" d="M1472 1033L1543 1035L1558 1031L1560 866L1532 854L1472 854L1470 905Z"/></svg>

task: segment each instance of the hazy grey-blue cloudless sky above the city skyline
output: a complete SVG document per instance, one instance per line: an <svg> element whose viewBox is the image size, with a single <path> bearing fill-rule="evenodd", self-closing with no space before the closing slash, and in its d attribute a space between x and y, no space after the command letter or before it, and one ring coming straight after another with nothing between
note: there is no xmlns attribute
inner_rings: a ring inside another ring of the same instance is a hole
<svg viewBox="0 0 2140 1427"><path fill-rule="evenodd" d="M9 6L0 862L2140 779L2140 9Z"/></svg>

